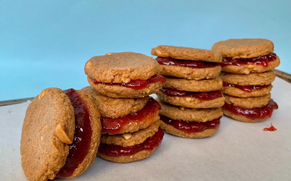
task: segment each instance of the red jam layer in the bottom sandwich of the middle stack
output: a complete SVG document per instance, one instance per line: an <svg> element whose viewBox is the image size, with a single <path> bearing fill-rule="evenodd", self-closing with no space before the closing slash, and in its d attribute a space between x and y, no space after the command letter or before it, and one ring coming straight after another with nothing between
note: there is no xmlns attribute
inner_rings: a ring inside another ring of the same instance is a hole
<svg viewBox="0 0 291 181"><path fill-rule="evenodd" d="M217 128L220 124L220 118L216 118L211 121L207 122L194 122L194 121L183 121L183 120L175 120L168 118L166 116L160 115L160 120L162 120L167 125L171 125L176 129L179 129L181 131L184 131L188 134L196 133L204 131L205 129L210 128Z"/></svg>

